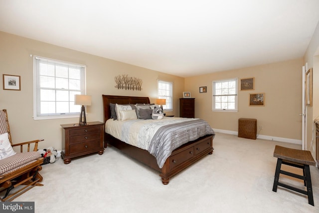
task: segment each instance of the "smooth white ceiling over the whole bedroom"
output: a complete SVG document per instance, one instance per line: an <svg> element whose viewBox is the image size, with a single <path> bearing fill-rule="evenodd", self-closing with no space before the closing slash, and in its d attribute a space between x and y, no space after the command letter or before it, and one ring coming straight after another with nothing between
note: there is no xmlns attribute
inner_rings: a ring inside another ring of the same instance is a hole
<svg viewBox="0 0 319 213"><path fill-rule="evenodd" d="M303 57L319 0L0 0L0 31L192 76Z"/></svg>

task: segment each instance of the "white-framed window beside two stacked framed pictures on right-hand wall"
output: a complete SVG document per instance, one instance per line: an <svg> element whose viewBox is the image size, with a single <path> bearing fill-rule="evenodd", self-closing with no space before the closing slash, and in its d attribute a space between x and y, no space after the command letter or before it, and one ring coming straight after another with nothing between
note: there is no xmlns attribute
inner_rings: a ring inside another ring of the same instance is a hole
<svg viewBox="0 0 319 213"><path fill-rule="evenodd" d="M237 112L238 78L213 81L213 111L235 111Z"/></svg>

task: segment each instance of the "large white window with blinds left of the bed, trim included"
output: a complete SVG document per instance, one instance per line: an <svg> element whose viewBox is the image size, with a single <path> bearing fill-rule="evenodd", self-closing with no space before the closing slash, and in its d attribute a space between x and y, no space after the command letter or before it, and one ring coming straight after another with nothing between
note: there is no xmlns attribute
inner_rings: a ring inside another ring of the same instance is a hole
<svg viewBox="0 0 319 213"><path fill-rule="evenodd" d="M85 94L85 66L35 56L33 69L33 118L78 117L74 95Z"/></svg>

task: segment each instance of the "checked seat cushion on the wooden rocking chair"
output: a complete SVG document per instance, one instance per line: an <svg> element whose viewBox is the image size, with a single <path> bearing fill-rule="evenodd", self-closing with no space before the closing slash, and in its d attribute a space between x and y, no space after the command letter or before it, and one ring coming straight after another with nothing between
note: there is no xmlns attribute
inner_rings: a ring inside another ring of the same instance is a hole
<svg viewBox="0 0 319 213"><path fill-rule="evenodd" d="M2 159L0 160L0 175L7 172L12 172L18 168L24 167L27 164L33 163L40 157L40 153L33 151L16 153L13 156Z"/></svg>

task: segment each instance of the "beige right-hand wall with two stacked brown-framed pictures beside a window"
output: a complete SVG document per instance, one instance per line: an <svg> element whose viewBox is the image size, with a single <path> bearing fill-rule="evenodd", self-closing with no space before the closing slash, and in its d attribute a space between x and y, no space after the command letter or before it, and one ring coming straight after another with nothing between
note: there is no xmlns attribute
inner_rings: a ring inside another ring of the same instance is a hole
<svg viewBox="0 0 319 213"><path fill-rule="evenodd" d="M301 140L303 59L185 78L185 90L195 97L195 117L213 129L238 131L238 118L256 118L260 135ZM255 90L238 91L238 112L213 112L212 81L255 77ZM207 86L207 93L199 93ZM265 93L265 106L249 106L249 93Z"/></svg>

